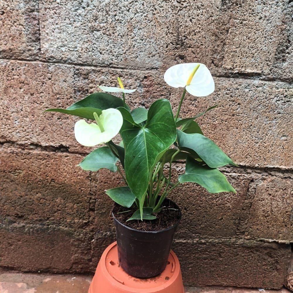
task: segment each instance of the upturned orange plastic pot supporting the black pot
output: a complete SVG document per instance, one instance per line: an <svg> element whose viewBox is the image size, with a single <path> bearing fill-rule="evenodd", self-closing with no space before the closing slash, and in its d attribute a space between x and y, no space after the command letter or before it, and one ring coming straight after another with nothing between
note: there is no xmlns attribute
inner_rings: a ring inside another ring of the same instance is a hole
<svg viewBox="0 0 293 293"><path fill-rule="evenodd" d="M104 251L88 293L184 293L178 258L171 251L160 275L139 279L120 267L117 242L114 242Z"/></svg>

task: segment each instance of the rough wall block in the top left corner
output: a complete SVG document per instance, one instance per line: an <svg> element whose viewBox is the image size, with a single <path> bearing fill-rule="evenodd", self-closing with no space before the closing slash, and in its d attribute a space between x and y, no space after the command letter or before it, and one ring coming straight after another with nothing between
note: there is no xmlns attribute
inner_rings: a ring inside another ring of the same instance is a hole
<svg viewBox="0 0 293 293"><path fill-rule="evenodd" d="M38 57L40 27L37 0L1 0L0 27L0 58Z"/></svg>

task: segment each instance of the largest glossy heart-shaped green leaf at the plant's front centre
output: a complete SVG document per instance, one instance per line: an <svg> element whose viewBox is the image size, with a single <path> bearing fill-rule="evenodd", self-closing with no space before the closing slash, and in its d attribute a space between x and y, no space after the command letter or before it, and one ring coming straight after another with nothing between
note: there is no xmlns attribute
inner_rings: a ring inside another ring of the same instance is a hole
<svg viewBox="0 0 293 293"><path fill-rule="evenodd" d="M124 119L120 134L125 146L126 179L142 209L150 174L176 139L171 104L166 99L156 100L149 108L144 126L135 123L125 108L118 110Z"/></svg>

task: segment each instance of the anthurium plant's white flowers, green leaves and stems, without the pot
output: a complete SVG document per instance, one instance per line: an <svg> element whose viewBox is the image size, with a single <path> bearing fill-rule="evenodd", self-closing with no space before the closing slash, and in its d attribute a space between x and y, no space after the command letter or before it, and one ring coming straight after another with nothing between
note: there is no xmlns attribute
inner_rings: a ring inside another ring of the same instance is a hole
<svg viewBox="0 0 293 293"><path fill-rule="evenodd" d="M121 174L125 186L105 192L117 204L133 210L129 220L156 219L156 214L164 208L166 197L185 182L197 183L210 193L236 193L218 170L227 164L236 164L212 140L205 137L196 122L198 117L216 106L193 117L183 118L179 115L186 92L196 97L214 92L214 80L209 69L201 63L177 64L166 71L164 80L169 86L183 88L175 115L167 99L156 100L148 110L131 110L125 94L135 89L125 89L119 77L119 88L99 88L105 92L122 93L122 98L97 92L67 109L45 111L91 120L91 123L85 120L76 122L76 140L86 147L104 146L88 154L79 166L88 171L106 168ZM112 139L118 133L122 141L115 144ZM178 181L172 182L172 163L175 161L185 161L186 167ZM168 169L164 172L166 165Z"/></svg>

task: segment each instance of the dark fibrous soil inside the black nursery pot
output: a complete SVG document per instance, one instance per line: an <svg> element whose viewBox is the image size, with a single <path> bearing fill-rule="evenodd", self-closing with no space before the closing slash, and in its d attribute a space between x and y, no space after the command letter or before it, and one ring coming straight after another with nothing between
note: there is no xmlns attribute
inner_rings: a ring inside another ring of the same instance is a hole
<svg viewBox="0 0 293 293"><path fill-rule="evenodd" d="M125 208L114 202L112 212L115 218L122 224L132 229L140 231L160 231L175 225L180 219L180 210L171 200L164 200L163 209L158 214L155 220L131 220L126 222L132 214L137 210L136 206ZM125 212L131 210L130 212ZM125 213L121 213L125 212ZM120 214L119 214L120 213Z"/></svg>

